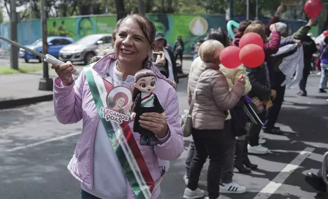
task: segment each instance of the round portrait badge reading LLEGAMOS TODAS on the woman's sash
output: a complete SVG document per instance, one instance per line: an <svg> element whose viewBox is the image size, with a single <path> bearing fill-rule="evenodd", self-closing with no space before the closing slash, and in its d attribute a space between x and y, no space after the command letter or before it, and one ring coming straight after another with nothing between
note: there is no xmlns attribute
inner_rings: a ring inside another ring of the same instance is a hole
<svg viewBox="0 0 328 199"><path fill-rule="evenodd" d="M114 87L108 92L106 101L107 107L100 109L106 121L111 120L121 124L123 121L131 120L132 94L129 88L125 86Z"/></svg>

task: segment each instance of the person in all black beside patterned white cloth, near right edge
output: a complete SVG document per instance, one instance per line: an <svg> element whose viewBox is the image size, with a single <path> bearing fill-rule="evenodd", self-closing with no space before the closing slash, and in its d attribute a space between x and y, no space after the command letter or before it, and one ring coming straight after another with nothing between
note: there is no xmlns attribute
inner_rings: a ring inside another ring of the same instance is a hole
<svg viewBox="0 0 328 199"><path fill-rule="evenodd" d="M304 53L304 69L303 69L303 77L299 82L299 92L297 94L299 96L307 96L306 84L311 72L312 54L316 53L318 49L313 39L309 36L305 37L302 44L303 44L303 53Z"/></svg>

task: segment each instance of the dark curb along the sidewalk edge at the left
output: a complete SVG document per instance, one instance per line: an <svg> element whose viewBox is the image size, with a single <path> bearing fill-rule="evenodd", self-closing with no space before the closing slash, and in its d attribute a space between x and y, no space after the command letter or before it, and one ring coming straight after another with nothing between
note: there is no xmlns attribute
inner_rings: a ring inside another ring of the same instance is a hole
<svg viewBox="0 0 328 199"><path fill-rule="evenodd" d="M0 101L0 110L35 104L39 102L52 101L52 96L53 96L52 94L47 94L37 97L20 98L17 100Z"/></svg>

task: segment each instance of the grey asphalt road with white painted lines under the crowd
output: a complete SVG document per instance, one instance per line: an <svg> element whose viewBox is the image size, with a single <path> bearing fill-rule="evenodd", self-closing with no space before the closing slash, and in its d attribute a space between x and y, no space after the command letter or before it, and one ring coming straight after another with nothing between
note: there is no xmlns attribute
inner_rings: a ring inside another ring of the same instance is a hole
<svg viewBox="0 0 328 199"><path fill-rule="evenodd" d="M249 175L235 173L234 181L247 187L248 192L221 198L327 198L304 181L304 174L321 167L322 154L328 151L328 94L318 93L318 81L318 76L309 78L308 97L298 97L297 89L287 90L278 124L285 134L265 134L270 154L250 156L259 169ZM178 95L181 113L188 107L186 79L180 81ZM63 125L57 121L52 102L0 110L0 198L80 198L79 183L66 169L80 131L80 122ZM182 156L171 162L160 199L182 198L190 139L185 138ZM200 178L203 189L207 165Z"/></svg>

